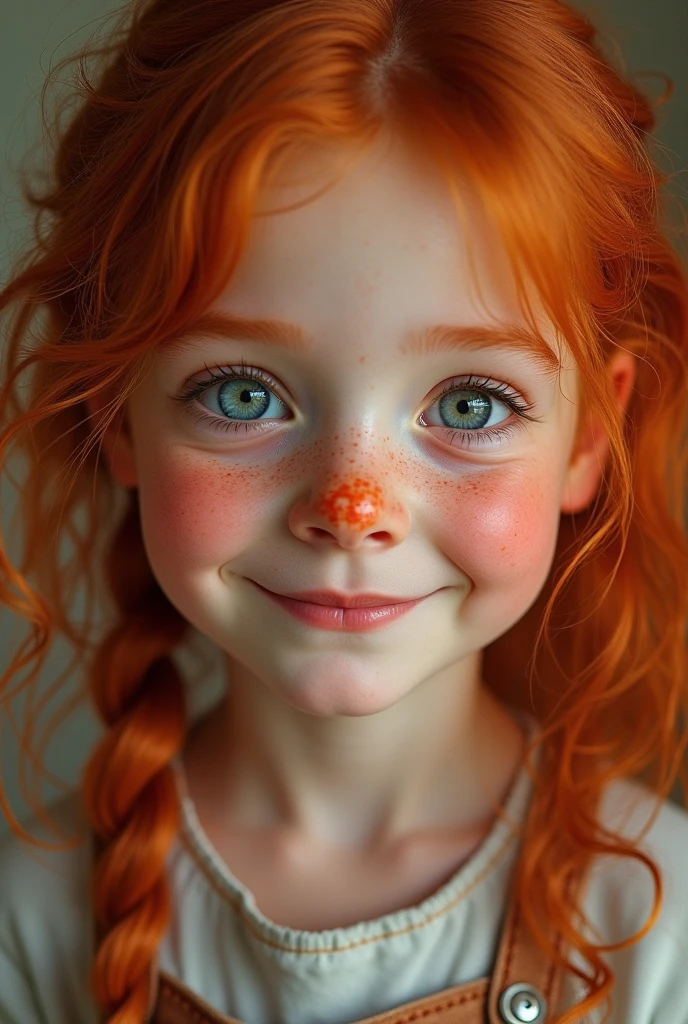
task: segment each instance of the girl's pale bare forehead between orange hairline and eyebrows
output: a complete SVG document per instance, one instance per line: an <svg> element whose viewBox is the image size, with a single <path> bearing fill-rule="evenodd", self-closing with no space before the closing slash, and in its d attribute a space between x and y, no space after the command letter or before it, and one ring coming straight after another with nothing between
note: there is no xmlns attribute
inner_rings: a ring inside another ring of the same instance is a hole
<svg viewBox="0 0 688 1024"><path fill-rule="evenodd" d="M469 247L481 285L493 278L493 291L509 288L506 253L468 184L459 194L464 226L446 183L402 143L378 142L355 162L345 154L301 155L259 193L232 298L257 282L267 282L270 294L287 292L298 279L312 292L355 287L372 303L395 282L405 286L410 272L418 282L412 295L431 283L434 293L463 289Z"/></svg>

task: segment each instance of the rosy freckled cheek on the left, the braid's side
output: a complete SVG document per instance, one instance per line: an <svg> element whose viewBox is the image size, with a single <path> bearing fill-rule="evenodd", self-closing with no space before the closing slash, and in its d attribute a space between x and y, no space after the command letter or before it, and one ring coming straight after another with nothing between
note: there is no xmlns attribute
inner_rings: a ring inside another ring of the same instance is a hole
<svg viewBox="0 0 688 1024"><path fill-rule="evenodd" d="M159 454L139 492L152 562L203 568L244 550L272 490L259 476L248 466L223 468L198 453Z"/></svg>

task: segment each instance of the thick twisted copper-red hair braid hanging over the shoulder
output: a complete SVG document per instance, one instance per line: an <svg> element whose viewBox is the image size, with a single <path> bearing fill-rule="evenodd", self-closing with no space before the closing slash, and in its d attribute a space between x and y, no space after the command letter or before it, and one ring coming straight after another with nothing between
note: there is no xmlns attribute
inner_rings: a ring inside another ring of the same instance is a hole
<svg viewBox="0 0 688 1024"><path fill-rule="evenodd" d="M99 853L92 876L98 941L91 974L107 1024L141 1024L148 975L169 921L164 865L178 831L169 761L186 731L182 682L169 654L188 629L155 580L137 492L106 557L121 612L99 644L90 688L107 732L84 770L83 800Z"/></svg>

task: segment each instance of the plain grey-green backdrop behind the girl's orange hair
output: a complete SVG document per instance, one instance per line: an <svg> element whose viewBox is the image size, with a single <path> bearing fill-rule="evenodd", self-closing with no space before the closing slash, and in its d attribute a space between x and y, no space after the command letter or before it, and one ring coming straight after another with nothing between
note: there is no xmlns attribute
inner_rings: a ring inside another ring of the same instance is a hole
<svg viewBox="0 0 688 1024"><path fill-rule="evenodd" d="M229 3L230 0L227 0ZM24 0L5 2L0 34L0 281L4 284L12 253L22 247L28 227L27 212L19 202L15 168L27 147L40 133L39 93L46 71L81 45L95 28L97 19L118 7L104 0ZM604 47L617 67L631 73L663 72L675 83L675 93L658 109L655 137L661 143L658 153L663 170L676 177L666 188L670 200L668 223L682 229L686 203L686 176L683 173L688 158L688 0L598 0L579 2L576 6L593 16L602 30ZM63 72L60 80L70 74ZM643 78L641 87L650 95L664 91L660 79ZM679 242L684 259L685 241ZM20 468L12 466L12 475L20 479ZM4 475L0 480L3 536L7 537L13 518L13 488ZM10 558L15 550L8 541ZM13 560L13 558L12 558ZM79 614L79 608L75 609ZM4 671L19 640L27 635L26 626L7 609L0 609L0 668ZM41 686L47 687L63 671L71 651L57 642L41 673ZM16 686L12 680L12 689ZM82 680L70 682L69 693L80 687ZM217 680L216 680L217 685ZM61 707L64 694L47 705L39 722L44 725ZM24 701L12 701L12 713L22 722ZM10 806L15 814L27 814L17 779L17 743L4 715L1 718L0 746L2 777ZM80 770L99 733L99 726L88 707L82 708L58 729L46 751L46 763L66 786L77 782ZM61 788L45 783L41 793L46 801L54 799ZM0 812L0 836L7 823Z"/></svg>

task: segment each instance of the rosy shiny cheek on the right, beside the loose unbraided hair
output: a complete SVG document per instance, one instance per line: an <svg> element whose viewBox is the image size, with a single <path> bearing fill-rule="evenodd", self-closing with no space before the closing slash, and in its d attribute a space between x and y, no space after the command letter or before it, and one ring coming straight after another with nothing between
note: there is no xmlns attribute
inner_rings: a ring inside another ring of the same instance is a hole
<svg viewBox="0 0 688 1024"><path fill-rule="evenodd" d="M442 550L477 586L542 585L554 556L557 476L542 465L492 468L437 487Z"/></svg>

